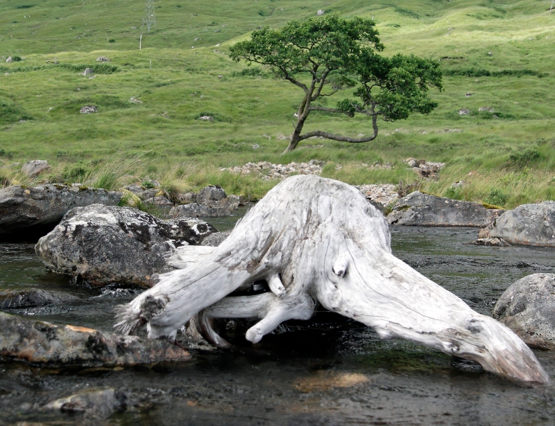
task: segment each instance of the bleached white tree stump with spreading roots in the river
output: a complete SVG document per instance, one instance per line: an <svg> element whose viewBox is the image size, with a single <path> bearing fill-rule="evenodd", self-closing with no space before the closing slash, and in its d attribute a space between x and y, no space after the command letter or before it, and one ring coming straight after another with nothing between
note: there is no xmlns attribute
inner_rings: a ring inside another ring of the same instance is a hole
<svg viewBox="0 0 555 426"><path fill-rule="evenodd" d="M284 180L219 247L182 262L185 269L160 276L121 308L119 330L146 322L150 337L166 336L206 309L212 317L262 318L246 336L259 341L285 319L309 318L320 302L382 337L409 339L510 378L548 380L509 328L395 258L383 215L339 181ZM272 292L223 299L259 279Z"/></svg>

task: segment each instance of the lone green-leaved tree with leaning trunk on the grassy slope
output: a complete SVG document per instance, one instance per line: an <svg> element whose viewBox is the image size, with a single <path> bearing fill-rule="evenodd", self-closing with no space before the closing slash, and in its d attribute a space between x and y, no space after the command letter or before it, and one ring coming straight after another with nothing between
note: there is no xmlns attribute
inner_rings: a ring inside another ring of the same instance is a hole
<svg viewBox="0 0 555 426"><path fill-rule="evenodd" d="M361 143L377 136L377 118L395 121L411 112L428 114L437 106L428 97L430 87L441 90L438 62L414 55L384 57L374 21L338 15L306 21L290 21L284 27L255 30L249 40L230 49L230 57L269 66L274 75L305 92L297 123L285 152L311 136L334 141ZM318 100L349 89L351 98L340 100L335 108L318 105ZM301 134L312 111L325 111L354 117L372 118L372 136L350 138L316 130Z"/></svg>

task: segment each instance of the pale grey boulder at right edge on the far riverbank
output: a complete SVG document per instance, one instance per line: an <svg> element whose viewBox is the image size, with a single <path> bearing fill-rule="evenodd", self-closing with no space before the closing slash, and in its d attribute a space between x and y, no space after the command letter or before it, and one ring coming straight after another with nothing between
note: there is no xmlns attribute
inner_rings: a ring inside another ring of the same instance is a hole
<svg viewBox="0 0 555 426"><path fill-rule="evenodd" d="M555 202L522 204L507 211L480 238L503 238L515 244L555 247Z"/></svg>

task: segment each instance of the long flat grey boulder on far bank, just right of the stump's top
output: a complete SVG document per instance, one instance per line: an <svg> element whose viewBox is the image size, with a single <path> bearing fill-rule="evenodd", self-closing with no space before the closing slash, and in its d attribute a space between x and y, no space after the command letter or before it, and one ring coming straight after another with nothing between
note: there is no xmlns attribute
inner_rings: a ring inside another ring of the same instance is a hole
<svg viewBox="0 0 555 426"><path fill-rule="evenodd" d="M504 210L415 191L401 198L387 216L389 224L412 227L487 227Z"/></svg>

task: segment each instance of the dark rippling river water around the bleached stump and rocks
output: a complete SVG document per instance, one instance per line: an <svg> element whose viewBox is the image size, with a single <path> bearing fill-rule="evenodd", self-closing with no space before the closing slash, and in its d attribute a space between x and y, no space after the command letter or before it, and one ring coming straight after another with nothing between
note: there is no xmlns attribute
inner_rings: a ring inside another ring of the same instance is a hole
<svg viewBox="0 0 555 426"><path fill-rule="evenodd" d="M236 218L214 224L229 229ZM477 229L392 229L393 253L490 314L515 280L555 270L553 249L475 247ZM0 244L0 290L70 292L74 305L12 310L54 323L111 330L113 305L133 289L92 290L44 271L33 245ZM180 365L40 369L0 364L0 424L20 425L554 425L555 386L521 384L330 312L290 321L257 345L193 351ZM535 350L555 380L555 353ZM41 411L56 398L114 388L130 405L108 419Z"/></svg>

